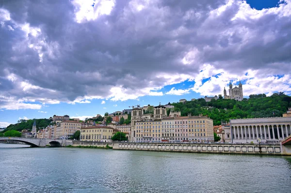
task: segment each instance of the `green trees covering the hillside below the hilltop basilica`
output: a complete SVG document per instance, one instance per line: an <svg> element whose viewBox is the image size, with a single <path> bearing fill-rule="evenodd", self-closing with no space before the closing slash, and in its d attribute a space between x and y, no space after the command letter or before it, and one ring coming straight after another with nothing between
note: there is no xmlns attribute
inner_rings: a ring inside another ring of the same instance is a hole
<svg viewBox="0 0 291 193"><path fill-rule="evenodd" d="M187 116L188 113L192 116L208 115L214 125L220 125L221 121L228 122L229 119L282 117L291 106L291 97L275 93L270 97L244 99L241 102L230 99L206 102L201 98L173 105L174 111L181 111L181 116Z"/></svg>

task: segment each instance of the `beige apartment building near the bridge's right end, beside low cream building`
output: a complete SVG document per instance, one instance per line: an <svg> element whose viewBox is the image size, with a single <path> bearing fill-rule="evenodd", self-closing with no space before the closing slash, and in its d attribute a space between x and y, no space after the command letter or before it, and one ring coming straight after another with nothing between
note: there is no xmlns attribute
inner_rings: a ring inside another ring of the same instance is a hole
<svg viewBox="0 0 291 193"><path fill-rule="evenodd" d="M55 127L55 138L70 137L81 130L81 123L75 120L65 120Z"/></svg>

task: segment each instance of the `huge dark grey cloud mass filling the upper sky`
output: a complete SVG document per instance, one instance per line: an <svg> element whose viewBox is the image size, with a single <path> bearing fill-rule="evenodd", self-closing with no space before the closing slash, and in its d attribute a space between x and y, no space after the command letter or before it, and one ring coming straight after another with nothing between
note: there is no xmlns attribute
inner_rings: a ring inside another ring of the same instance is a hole
<svg viewBox="0 0 291 193"><path fill-rule="evenodd" d="M104 98L120 86L135 94L194 78L204 63L238 75L291 72L289 1L258 17L246 3L225 0L158 0L140 11L134 2L116 0L110 15L78 23L73 1L3 1L10 20L0 18L0 95L49 103ZM24 91L21 82L41 91Z"/></svg>

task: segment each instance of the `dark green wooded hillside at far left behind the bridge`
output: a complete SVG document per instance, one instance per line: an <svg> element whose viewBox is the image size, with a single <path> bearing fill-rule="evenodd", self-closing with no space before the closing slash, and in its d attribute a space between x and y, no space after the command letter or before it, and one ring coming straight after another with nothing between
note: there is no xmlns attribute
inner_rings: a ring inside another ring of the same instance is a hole
<svg viewBox="0 0 291 193"><path fill-rule="evenodd" d="M29 129L32 130L32 125L33 125L33 119L29 119L29 120L24 120L25 122L20 122L20 123L16 123L16 124L11 124L7 127L7 129L5 129L3 132L7 131L7 130L16 130L21 132L21 130L23 129ZM50 122L52 121L52 119L35 119L36 121L36 128L39 127L47 127Z"/></svg>

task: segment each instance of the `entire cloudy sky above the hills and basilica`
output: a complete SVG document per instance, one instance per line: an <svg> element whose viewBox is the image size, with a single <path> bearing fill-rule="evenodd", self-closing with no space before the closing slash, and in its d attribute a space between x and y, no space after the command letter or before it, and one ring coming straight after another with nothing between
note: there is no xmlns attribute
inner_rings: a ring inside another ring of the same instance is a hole
<svg viewBox="0 0 291 193"><path fill-rule="evenodd" d="M291 0L2 0L0 127L223 94L291 95ZM228 91L227 91L228 93Z"/></svg>

